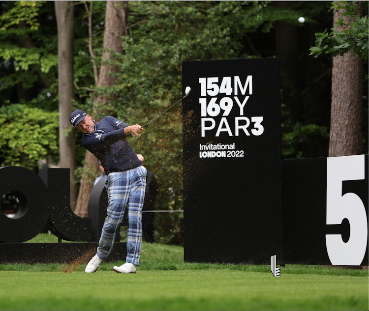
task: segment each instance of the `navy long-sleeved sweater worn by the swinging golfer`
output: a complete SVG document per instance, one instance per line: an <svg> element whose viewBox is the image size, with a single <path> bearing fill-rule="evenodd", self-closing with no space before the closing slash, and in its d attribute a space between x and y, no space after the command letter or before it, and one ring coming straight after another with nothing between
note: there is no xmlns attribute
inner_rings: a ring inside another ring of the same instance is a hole
<svg viewBox="0 0 369 311"><path fill-rule="evenodd" d="M127 126L114 116L106 116L95 124L92 133L82 137L82 146L101 161L106 174L141 166L132 146L125 139L124 128Z"/></svg>

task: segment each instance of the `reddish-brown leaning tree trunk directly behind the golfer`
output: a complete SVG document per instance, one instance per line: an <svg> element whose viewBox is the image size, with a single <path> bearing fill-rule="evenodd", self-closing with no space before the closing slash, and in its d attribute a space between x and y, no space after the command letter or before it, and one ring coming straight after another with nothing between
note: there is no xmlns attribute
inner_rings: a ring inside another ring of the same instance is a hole
<svg viewBox="0 0 369 311"><path fill-rule="evenodd" d="M109 75L110 71L115 72L117 68L104 62L104 59L110 59L110 50L117 53L123 53L122 36L125 33L128 16L128 1L106 1L105 12L105 32L104 32L104 52L102 54L103 62L100 67L99 77L96 81L96 86L112 86L114 77ZM106 113L109 113L105 108L106 103L110 100L104 95L93 98L92 118L97 122ZM88 203L93 187L93 181L96 176L98 160L89 152L86 151L85 164L83 167L83 176L81 186L78 193L77 205L75 213L78 216L86 217L88 214ZM93 177L93 178L92 178Z"/></svg>

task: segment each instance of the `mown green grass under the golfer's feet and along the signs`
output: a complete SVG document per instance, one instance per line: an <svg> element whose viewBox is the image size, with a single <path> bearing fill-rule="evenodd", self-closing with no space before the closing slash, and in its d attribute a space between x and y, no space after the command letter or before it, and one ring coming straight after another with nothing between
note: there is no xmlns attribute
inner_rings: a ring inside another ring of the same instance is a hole
<svg viewBox="0 0 369 311"><path fill-rule="evenodd" d="M41 238L41 237L38 237ZM47 237L46 237L47 238ZM48 242L48 241L46 241ZM0 310L368 310L368 271L184 263L178 246L143 243L137 274L104 263L0 265Z"/></svg>

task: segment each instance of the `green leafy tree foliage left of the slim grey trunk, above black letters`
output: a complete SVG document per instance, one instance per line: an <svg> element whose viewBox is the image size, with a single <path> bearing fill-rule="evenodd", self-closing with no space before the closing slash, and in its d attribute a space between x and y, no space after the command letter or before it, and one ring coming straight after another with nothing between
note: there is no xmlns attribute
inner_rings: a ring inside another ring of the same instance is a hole
<svg viewBox="0 0 369 311"><path fill-rule="evenodd" d="M53 103L58 57L49 8L49 3L41 1L0 4L0 99L4 117L0 166L19 165L37 171L40 159L52 161L59 156L58 113ZM40 27L40 20L45 27ZM27 124L24 129L30 132L24 132L19 122Z"/></svg>

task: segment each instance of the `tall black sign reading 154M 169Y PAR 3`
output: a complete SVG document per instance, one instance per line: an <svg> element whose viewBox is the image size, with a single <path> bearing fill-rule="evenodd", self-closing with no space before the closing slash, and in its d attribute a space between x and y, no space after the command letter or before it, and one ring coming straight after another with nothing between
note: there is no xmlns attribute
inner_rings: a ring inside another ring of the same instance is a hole
<svg viewBox="0 0 369 311"><path fill-rule="evenodd" d="M186 86L185 261L280 258L279 59L183 62Z"/></svg>

